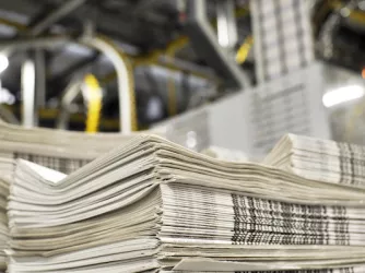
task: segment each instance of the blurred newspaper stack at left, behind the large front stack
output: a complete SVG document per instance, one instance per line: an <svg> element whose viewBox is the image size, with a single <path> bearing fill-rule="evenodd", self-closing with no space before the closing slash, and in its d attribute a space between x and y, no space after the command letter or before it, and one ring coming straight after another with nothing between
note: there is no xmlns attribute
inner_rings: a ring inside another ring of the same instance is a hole
<svg viewBox="0 0 365 273"><path fill-rule="evenodd" d="M70 174L130 138L110 133L25 129L0 120L0 272L5 270L7 199L15 161L23 158Z"/></svg>

